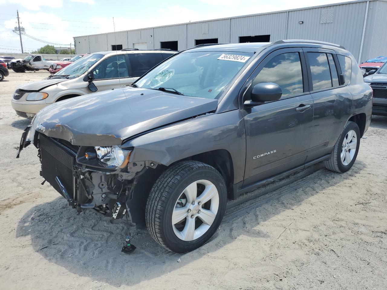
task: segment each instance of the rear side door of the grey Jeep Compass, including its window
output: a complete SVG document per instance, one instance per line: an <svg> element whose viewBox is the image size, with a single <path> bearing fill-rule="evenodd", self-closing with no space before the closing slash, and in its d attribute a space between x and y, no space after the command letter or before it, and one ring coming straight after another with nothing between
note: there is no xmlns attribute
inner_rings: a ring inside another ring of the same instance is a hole
<svg viewBox="0 0 387 290"><path fill-rule="evenodd" d="M352 95L339 84L341 73L335 51L303 48L314 102L313 130L307 162L329 154L352 109ZM345 80L346 77L344 77Z"/></svg>

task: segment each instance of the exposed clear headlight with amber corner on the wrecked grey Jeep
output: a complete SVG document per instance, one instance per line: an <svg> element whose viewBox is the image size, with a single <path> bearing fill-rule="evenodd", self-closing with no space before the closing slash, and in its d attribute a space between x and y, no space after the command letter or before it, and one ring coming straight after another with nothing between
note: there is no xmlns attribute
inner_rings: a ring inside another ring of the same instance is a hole
<svg viewBox="0 0 387 290"><path fill-rule="evenodd" d="M120 168L128 164L130 153L132 153L132 150L125 150L118 146L96 146L94 149L99 160L108 165Z"/></svg>

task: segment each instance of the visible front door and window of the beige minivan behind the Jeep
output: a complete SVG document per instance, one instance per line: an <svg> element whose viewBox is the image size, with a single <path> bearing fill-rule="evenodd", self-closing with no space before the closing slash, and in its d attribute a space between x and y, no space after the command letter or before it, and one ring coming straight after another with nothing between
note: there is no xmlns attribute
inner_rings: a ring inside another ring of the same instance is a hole
<svg viewBox="0 0 387 290"><path fill-rule="evenodd" d="M92 73L98 91L118 89L134 82L134 78L129 77L125 55L114 55L104 59L93 68Z"/></svg>

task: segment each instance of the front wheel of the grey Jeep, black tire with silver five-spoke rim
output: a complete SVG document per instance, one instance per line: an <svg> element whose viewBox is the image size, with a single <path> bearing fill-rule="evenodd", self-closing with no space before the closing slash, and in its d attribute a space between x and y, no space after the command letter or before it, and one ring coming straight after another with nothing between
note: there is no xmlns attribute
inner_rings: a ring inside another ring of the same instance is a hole
<svg viewBox="0 0 387 290"><path fill-rule="evenodd" d="M214 197L205 201L205 196L201 195L203 192ZM191 199L190 194L197 195L197 198ZM146 226L153 239L169 251L193 251L216 232L226 202L226 184L214 167L198 161L179 162L163 172L153 185L145 208ZM211 213L210 221L205 218L209 217L206 213ZM182 220L173 224L173 216L175 220ZM191 235L192 230L194 234Z"/></svg>

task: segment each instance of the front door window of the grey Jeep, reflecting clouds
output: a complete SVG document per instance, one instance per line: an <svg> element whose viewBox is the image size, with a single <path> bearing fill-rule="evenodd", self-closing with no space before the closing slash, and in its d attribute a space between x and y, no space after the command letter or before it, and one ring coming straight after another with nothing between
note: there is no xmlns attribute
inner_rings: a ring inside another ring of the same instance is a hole
<svg viewBox="0 0 387 290"><path fill-rule="evenodd" d="M260 82L279 85L282 97L302 94L304 88L299 53L290 52L274 56L254 78L253 85Z"/></svg>

